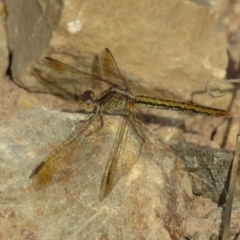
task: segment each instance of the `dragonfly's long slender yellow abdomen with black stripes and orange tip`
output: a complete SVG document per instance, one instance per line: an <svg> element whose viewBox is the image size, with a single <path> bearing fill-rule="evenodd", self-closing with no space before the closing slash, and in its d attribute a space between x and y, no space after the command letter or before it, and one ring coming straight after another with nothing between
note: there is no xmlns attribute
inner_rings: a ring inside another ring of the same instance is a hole
<svg viewBox="0 0 240 240"><path fill-rule="evenodd" d="M209 107L196 105L193 103L182 103L182 102L176 102L171 100L151 98L146 96L135 96L134 102L141 108L159 108L159 109L174 110L179 112L200 114L200 115L213 116L213 117L230 115L229 111L222 110L222 109L209 108Z"/></svg>

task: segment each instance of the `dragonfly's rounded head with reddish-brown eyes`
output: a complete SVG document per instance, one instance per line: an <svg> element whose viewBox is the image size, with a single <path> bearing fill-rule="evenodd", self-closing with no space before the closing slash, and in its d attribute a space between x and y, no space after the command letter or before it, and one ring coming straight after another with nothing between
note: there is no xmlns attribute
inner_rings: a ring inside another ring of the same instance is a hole
<svg viewBox="0 0 240 240"><path fill-rule="evenodd" d="M94 112L96 109L94 97L94 92L92 90L87 90L79 97L78 105L86 112Z"/></svg>

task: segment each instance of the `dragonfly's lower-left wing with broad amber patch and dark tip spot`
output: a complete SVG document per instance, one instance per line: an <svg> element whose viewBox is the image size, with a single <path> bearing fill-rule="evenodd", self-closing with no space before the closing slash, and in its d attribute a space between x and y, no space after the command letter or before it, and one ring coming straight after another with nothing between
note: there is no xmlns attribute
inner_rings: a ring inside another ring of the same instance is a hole
<svg viewBox="0 0 240 240"><path fill-rule="evenodd" d="M101 119L98 113L78 126L73 133L40 164L32 176L35 188L44 188L75 171L99 147Z"/></svg>

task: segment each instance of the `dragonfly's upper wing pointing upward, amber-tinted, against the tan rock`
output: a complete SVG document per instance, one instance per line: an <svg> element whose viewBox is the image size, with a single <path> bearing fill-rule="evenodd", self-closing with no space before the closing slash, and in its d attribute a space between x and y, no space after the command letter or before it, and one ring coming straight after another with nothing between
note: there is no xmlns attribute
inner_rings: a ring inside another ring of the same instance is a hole
<svg viewBox="0 0 240 240"><path fill-rule="evenodd" d="M126 80L123 78L117 63L108 48L105 48L102 52L101 64L104 78L110 80L120 88L129 89Z"/></svg>

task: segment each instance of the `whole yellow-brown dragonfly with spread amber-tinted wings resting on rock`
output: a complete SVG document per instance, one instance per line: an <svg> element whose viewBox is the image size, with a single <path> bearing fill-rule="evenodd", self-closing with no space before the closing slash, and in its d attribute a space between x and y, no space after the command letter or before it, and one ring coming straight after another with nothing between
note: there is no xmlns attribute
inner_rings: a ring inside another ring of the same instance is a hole
<svg viewBox="0 0 240 240"><path fill-rule="evenodd" d="M105 84L107 88L98 96L90 89L80 95L79 106L91 113L91 116L84 123L79 123L71 135L33 172L32 184L37 189L64 179L90 158L93 148L97 146L94 145L94 141L97 139L99 129L105 127L103 119L105 113L117 114L121 121L104 169L100 199L108 196L120 178L129 172L140 157L145 136L143 125L136 116L142 113L142 108L168 109L213 117L230 115L227 110L133 95L108 48L103 50L100 59L94 58L92 73L83 72L49 57L44 58L44 63L52 71L53 77L62 81L89 88ZM132 141L137 146L134 150L130 147ZM83 147L83 143L86 142L89 142L89 145ZM93 147L90 144L93 144Z"/></svg>

